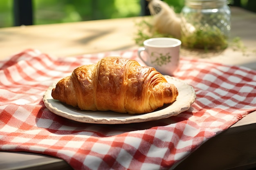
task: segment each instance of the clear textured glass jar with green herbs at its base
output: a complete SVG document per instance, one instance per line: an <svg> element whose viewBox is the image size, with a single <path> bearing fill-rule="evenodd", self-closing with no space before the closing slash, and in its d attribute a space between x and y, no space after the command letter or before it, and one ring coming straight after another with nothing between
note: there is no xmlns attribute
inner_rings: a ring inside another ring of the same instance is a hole
<svg viewBox="0 0 256 170"><path fill-rule="evenodd" d="M192 49L225 49L231 12L227 0L186 0L181 11L182 46Z"/></svg>

